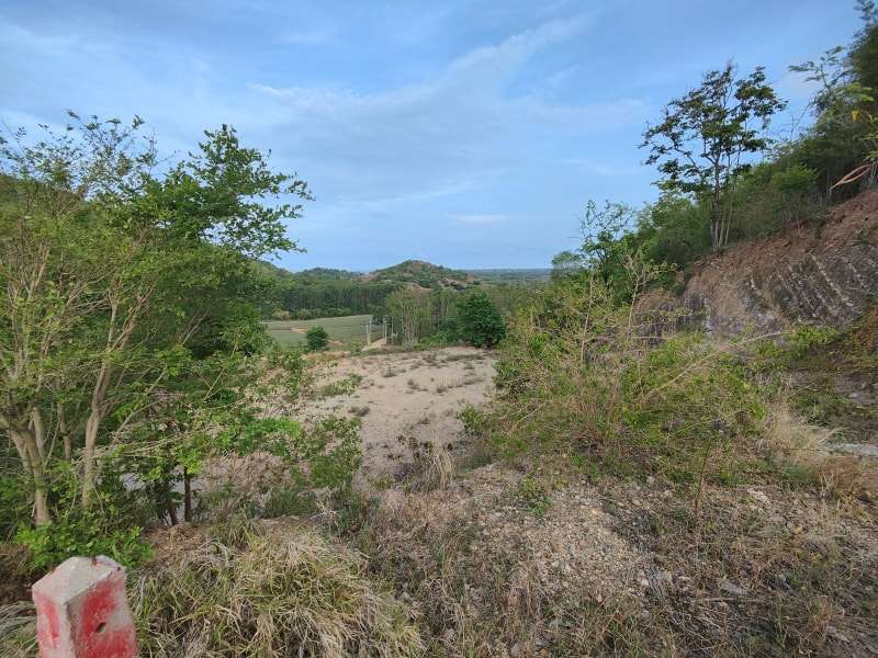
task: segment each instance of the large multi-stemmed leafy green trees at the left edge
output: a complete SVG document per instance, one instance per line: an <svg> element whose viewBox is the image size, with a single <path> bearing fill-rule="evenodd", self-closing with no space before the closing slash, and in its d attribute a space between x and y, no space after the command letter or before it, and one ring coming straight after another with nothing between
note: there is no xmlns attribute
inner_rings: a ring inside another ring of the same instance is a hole
<svg viewBox="0 0 878 658"><path fill-rule="evenodd" d="M261 200L309 197L227 126L158 177L139 117L70 120L0 141L0 430L37 524L55 462L76 454L90 507L100 451L172 407L193 349L258 349L247 258L294 248L284 220L300 211Z"/></svg>

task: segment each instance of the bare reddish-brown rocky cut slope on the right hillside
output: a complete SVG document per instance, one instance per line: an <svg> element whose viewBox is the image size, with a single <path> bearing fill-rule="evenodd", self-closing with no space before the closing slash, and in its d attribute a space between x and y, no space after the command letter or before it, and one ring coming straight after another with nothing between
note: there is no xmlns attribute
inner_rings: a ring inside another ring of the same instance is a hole
<svg viewBox="0 0 878 658"><path fill-rule="evenodd" d="M773 331L796 322L844 327L878 295L878 191L829 213L825 224L738 245L701 263L684 300L707 328Z"/></svg>

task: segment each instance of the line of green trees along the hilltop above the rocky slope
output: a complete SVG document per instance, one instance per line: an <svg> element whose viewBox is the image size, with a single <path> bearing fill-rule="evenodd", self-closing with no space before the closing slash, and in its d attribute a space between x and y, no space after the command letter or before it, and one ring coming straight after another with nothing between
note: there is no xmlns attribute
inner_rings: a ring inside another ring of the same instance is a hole
<svg viewBox="0 0 878 658"><path fill-rule="evenodd" d="M790 67L819 89L813 123L787 140L769 132L786 103L757 68L709 71L648 126L641 146L661 173L662 195L643 208L589 202L583 245L553 260L555 279L583 268L628 294L624 253L668 268L662 283L713 251L786 227L818 230L831 203L878 179L878 12L857 3L864 24L847 47Z"/></svg>

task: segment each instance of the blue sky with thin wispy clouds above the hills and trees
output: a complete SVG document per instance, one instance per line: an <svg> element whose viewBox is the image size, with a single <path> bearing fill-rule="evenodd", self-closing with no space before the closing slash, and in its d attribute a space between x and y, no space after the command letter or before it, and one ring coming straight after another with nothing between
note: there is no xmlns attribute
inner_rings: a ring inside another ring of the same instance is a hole
<svg viewBox="0 0 878 658"><path fill-rule="evenodd" d="M846 44L853 0L0 3L0 118L144 116L166 154L233 124L316 196L292 270L548 266L588 198L641 204L644 125L701 73Z"/></svg>

